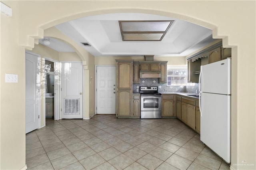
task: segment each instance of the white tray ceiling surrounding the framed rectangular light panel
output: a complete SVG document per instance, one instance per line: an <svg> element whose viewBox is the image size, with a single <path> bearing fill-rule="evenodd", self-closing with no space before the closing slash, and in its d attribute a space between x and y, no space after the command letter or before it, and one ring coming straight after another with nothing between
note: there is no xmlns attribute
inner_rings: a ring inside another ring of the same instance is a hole
<svg viewBox="0 0 256 170"><path fill-rule="evenodd" d="M161 41L123 41L119 21L126 20L173 22ZM94 56L186 56L216 40L212 39L212 30L208 28L176 18L141 13L87 16L56 28ZM91 46L84 46L82 42ZM51 44L49 47L53 49L58 45ZM62 51L60 48L57 51ZM67 51L66 47L64 49Z"/></svg>

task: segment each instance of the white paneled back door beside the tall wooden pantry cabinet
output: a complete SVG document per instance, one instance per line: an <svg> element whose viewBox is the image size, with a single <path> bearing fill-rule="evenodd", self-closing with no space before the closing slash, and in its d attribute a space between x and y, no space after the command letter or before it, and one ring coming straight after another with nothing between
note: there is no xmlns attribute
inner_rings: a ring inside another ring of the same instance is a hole
<svg viewBox="0 0 256 170"><path fill-rule="evenodd" d="M96 114L116 113L116 66L97 66Z"/></svg>

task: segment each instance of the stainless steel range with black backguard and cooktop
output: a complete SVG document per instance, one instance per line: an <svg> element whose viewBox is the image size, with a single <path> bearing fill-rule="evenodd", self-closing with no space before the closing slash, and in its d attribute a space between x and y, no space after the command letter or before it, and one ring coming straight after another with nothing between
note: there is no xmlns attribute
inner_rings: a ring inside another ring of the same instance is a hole
<svg viewBox="0 0 256 170"><path fill-rule="evenodd" d="M162 97L157 86L140 87L140 119L162 118Z"/></svg>

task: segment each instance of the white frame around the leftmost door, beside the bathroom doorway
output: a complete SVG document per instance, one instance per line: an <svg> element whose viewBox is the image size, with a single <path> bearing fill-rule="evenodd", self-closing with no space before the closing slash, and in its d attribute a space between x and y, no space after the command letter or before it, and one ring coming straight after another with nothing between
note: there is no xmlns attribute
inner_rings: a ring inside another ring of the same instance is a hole
<svg viewBox="0 0 256 170"><path fill-rule="evenodd" d="M37 56L38 66L42 65L40 54L31 52L31 51L25 51L25 55L26 55L26 53ZM25 57L25 61L26 61L26 57ZM41 69L41 67L40 67L40 69ZM41 82L41 71L37 71L37 74L38 74L38 77L39 77L39 81ZM45 119L44 119L44 125L41 127L41 97L42 97L41 94L42 94L42 90L41 90L41 85L40 85L39 93L38 93L38 99L39 99L39 102L38 102L38 116L39 116L39 119L38 119L38 128L37 129L42 128L42 127L45 126ZM45 102L45 99L44 99L44 102ZM26 103L25 103L25 107L26 107Z"/></svg>

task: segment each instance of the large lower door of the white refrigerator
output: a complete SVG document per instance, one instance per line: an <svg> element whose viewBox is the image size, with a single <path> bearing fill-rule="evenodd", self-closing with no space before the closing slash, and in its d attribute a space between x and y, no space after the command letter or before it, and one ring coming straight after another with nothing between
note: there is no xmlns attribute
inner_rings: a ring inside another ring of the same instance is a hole
<svg viewBox="0 0 256 170"><path fill-rule="evenodd" d="M200 93L200 140L230 163L230 95Z"/></svg>

